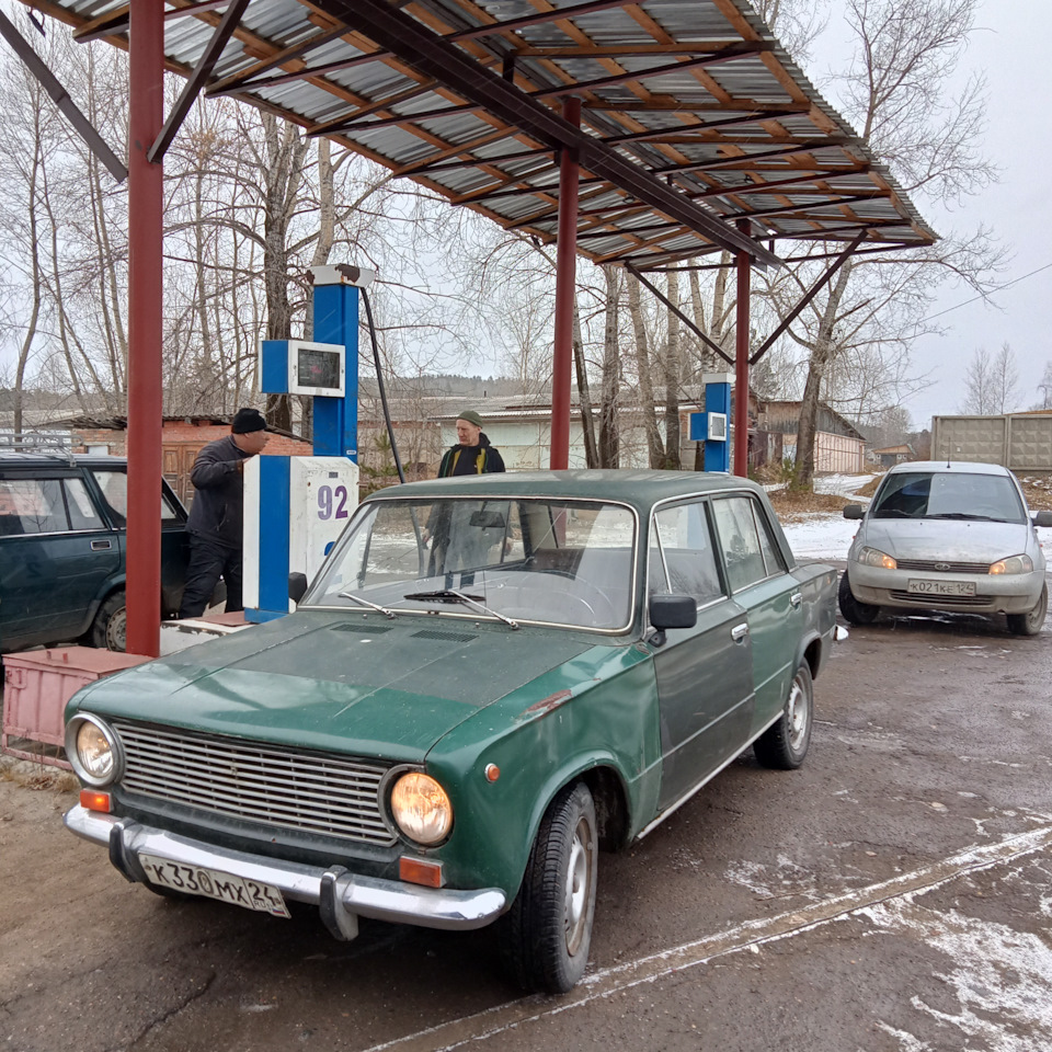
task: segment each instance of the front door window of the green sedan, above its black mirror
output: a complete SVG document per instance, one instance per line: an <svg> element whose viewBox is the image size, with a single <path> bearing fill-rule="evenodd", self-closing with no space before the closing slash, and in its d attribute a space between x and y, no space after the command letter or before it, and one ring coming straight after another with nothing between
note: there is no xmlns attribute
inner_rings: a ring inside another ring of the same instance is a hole
<svg viewBox="0 0 1052 1052"><path fill-rule="evenodd" d="M702 503L665 507L654 515L650 592L691 595L699 604L723 595Z"/></svg>

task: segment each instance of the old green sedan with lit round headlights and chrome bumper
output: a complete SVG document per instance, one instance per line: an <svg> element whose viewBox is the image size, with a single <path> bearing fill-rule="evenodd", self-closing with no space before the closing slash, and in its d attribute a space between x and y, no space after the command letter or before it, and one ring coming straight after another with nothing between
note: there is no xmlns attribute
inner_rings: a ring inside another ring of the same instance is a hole
<svg viewBox="0 0 1052 1052"><path fill-rule="evenodd" d="M499 922L549 992L584 972L599 848L748 745L802 763L836 631L836 572L724 474L387 489L295 585L294 614L76 695L67 826L156 892L313 903L340 939Z"/></svg>

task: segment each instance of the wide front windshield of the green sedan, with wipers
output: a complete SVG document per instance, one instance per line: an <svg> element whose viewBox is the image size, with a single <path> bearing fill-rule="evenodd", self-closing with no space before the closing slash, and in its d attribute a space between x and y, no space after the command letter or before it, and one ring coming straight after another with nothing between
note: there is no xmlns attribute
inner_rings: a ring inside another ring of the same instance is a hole
<svg viewBox="0 0 1052 1052"><path fill-rule="evenodd" d="M301 606L625 630L636 534L630 508L595 501L376 501Z"/></svg>

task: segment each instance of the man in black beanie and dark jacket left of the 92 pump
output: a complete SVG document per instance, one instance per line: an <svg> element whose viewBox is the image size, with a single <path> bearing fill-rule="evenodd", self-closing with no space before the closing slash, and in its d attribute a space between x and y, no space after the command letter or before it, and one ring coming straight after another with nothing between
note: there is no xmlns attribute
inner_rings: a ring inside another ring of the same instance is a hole
<svg viewBox="0 0 1052 1052"><path fill-rule="evenodd" d="M190 565L180 617L204 614L219 579L227 585L227 613L242 610L241 547L244 517L244 461L263 451L266 421L258 409L239 409L230 434L209 442L194 461L190 480L197 491L190 508Z"/></svg>

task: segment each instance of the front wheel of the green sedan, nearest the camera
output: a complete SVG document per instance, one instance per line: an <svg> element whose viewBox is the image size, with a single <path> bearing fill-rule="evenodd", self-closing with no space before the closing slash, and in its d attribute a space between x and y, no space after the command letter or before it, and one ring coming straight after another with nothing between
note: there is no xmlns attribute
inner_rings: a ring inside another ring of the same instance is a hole
<svg viewBox="0 0 1052 1052"><path fill-rule="evenodd" d="M502 952L524 988L562 994L584 974L592 942L598 839L584 782L551 802L504 918Z"/></svg>

